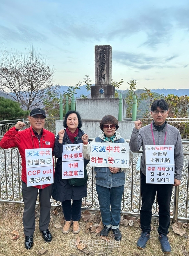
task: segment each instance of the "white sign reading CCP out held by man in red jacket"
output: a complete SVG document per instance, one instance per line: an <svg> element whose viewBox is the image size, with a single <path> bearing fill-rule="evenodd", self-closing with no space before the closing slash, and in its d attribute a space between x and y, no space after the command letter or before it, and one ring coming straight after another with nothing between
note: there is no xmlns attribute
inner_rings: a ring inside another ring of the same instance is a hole
<svg viewBox="0 0 189 256"><path fill-rule="evenodd" d="M54 182L51 148L25 149L27 187Z"/></svg>

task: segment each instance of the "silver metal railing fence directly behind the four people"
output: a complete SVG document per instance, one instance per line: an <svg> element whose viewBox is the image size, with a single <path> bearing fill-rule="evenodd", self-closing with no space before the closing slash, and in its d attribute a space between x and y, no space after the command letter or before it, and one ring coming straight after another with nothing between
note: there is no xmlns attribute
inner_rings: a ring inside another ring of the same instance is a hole
<svg viewBox="0 0 189 256"><path fill-rule="evenodd" d="M92 140L92 139L91 139ZM129 141L128 141L129 142ZM189 141L183 141L184 168L181 185L174 187L170 210L171 218L175 221L189 221ZM140 216L140 171L136 170L136 162L142 151L137 151L131 167L127 170L121 213ZM17 148L0 148L0 202L23 203L21 182L21 158ZM99 211L97 193L92 178L92 168L88 165L88 196L83 198L82 209ZM39 202L37 202L38 204ZM51 205L60 206L51 198ZM154 202L153 217L158 217L158 205Z"/></svg>

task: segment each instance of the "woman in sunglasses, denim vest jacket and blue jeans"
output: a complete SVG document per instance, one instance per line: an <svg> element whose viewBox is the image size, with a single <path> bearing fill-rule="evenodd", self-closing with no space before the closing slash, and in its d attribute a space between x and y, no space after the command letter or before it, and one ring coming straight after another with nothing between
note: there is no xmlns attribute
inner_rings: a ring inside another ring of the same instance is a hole
<svg viewBox="0 0 189 256"><path fill-rule="evenodd" d="M100 122L101 134L92 142L106 143L125 143L126 141L117 132L119 128L118 120L112 116L104 116ZM88 143L88 135L82 136L83 140L83 156L85 159L90 159L90 145ZM133 159L133 153L130 151L130 162ZM95 179L96 190L100 205L102 222L104 229L101 231L101 236L108 236L112 229L114 239L120 241L122 234L120 232L120 212L121 202L124 192L124 184L126 177L126 168L118 167L95 167L93 172ZM111 209L110 209L111 206Z"/></svg>

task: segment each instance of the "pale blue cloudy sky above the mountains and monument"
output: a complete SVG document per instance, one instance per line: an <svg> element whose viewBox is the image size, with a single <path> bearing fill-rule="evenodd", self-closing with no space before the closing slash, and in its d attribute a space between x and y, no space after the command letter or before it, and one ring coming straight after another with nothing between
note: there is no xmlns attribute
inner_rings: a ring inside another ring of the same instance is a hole
<svg viewBox="0 0 189 256"><path fill-rule="evenodd" d="M95 45L112 46L112 79L139 88L189 88L188 0L0 0L0 48L30 46L54 83L95 83Z"/></svg>

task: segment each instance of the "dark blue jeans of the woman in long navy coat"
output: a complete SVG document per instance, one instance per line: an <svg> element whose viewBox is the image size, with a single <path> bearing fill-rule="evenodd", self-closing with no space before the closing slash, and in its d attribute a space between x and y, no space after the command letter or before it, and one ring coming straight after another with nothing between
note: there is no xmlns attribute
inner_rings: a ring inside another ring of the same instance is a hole
<svg viewBox="0 0 189 256"><path fill-rule="evenodd" d="M65 200L62 202L62 210L66 221L78 221L81 219L81 199Z"/></svg>

